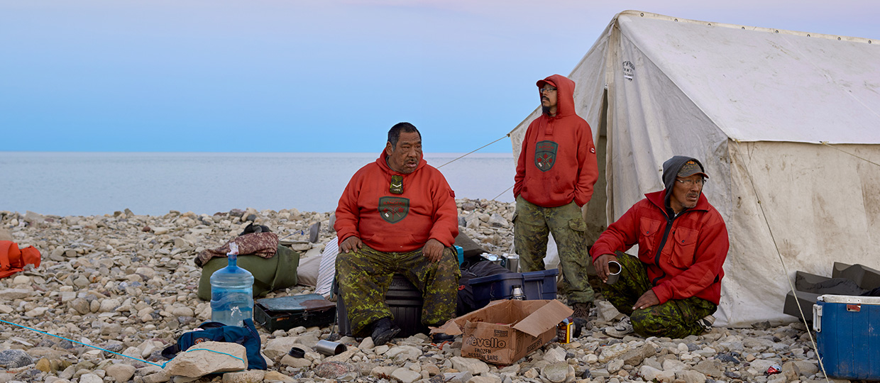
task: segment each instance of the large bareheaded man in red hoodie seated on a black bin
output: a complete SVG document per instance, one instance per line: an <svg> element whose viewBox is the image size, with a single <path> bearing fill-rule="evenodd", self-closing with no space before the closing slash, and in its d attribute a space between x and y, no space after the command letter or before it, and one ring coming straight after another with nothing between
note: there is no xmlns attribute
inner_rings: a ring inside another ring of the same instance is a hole
<svg viewBox="0 0 880 383"><path fill-rule="evenodd" d="M392 276L407 277L424 298L422 323L440 326L455 314L458 235L455 194L422 159L422 135L400 122L376 162L348 181L336 208L341 298L356 336L385 344L400 328L392 323L385 293ZM444 336L444 335L439 335Z"/></svg>

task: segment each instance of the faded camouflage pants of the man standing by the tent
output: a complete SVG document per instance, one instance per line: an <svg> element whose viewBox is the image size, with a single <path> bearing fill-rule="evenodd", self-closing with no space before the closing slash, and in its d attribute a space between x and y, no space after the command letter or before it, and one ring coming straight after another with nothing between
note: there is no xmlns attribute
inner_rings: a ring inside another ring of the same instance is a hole
<svg viewBox="0 0 880 383"><path fill-rule="evenodd" d="M513 245L519 254L522 271L544 269L547 235L553 232L559 252L560 269L568 283L568 305L592 302L595 298L587 282L590 254L584 237L586 224L577 204L572 202L555 208L543 208L517 196L517 213L513 219Z"/></svg>

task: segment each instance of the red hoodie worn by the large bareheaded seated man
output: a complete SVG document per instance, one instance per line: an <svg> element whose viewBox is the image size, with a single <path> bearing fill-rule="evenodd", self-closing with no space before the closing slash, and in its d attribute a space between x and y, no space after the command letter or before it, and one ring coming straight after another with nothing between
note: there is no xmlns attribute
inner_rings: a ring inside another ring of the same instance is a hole
<svg viewBox="0 0 880 383"><path fill-rule="evenodd" d="M403 194L389 192L392 175L403 176ZM414 251L432 238L451 247L458 235L455 193L424 158L413 173L397 173L388 167L382 151L376 162L363 166L348 181L334 228L340 244L354 235L385 253Z"/></svg>

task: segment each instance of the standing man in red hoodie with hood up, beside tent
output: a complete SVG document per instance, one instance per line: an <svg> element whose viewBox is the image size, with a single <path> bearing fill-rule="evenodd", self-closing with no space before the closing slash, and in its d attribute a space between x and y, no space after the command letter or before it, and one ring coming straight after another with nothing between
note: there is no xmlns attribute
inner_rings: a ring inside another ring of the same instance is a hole
<svg viewBox="0 0 880 383"><path fill-rule="evenodd" d="M594 293L587 282L590 255L581 210L598 179L596 146L590 125L575 113L574 81L546 77L538 81L538 92L543 113L525 132L514 179L514 246L523 271L543 270L547 236L553 233L568 306L585 320Z"/></svg>

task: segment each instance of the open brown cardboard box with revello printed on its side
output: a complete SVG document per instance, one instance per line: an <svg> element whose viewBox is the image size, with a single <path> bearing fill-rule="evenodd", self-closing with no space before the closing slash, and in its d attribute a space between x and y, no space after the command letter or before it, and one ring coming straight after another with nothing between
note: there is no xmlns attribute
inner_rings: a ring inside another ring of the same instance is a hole
<svg viewBox="0 0 880 383"><path fill-rule="evenodd" d="M431 332L462 335L462 357L511 365L552 341L556 325L572 313L556 299L496 300Z"/></svg>

